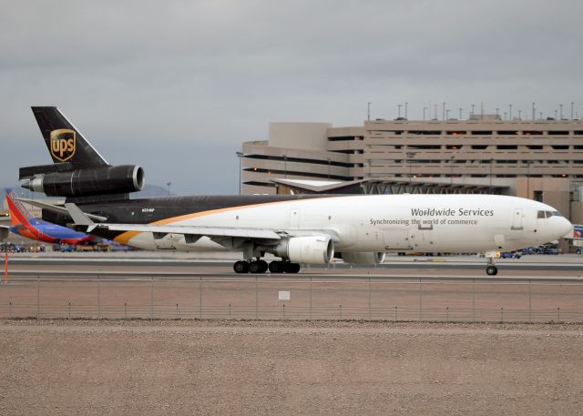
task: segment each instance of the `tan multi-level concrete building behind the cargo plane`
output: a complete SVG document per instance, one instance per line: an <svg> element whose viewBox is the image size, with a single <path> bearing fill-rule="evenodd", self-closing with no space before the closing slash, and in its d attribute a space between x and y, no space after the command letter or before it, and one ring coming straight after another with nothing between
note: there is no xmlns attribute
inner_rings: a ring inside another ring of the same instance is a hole
<svg viewBox="0 0 583 416"><path fill-rule="evenodd" d="M581 120L271 123L268 139L244 143L239 156L244 194L315 192L302 187L305 179L329 192L352 184L363 193L496 193L536 199L583 222Z"/></svg>

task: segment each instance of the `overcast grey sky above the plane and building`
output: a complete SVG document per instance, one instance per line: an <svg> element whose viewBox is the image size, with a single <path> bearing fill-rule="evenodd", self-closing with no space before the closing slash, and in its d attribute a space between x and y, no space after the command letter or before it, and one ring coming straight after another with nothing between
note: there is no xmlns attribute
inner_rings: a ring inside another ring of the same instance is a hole
<svg viewBox="0 0 583 416"><path fill-rule="evenodd" d="M0 186L50 163L32 105L181 195L236 193L235 151L270 122L361 126L369 101L373 118L405 101L409 118L442 102L530 117L533 101L583 117L580 0L0 5Z"/></svg>

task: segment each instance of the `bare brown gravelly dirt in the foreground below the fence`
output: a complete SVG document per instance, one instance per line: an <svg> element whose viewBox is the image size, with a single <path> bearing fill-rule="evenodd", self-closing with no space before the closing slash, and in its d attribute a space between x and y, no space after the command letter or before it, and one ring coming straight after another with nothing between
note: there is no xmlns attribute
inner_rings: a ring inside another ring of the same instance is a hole
<svg viewBox="0 0 583 416"><path fill-rule="evenodd" d="M583 325L0 320L2 415L581 414Z"/></svg>

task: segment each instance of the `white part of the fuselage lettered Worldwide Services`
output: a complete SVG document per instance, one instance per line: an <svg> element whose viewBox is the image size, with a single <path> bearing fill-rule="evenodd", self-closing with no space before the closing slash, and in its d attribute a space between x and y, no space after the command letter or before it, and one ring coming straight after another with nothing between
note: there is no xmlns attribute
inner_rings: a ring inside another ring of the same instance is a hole
<svg viewBox="0 0 583 416"><path fill-rule="evenodd" d="M332 230L336 251L487 252L538 246L568 233L566 218L537 218L556 210L525 198L495 195L339 196L221 208L179 218L168 225ZM223 246L199 238L152 233L128 235L141 249L216 250Z"/></svg>

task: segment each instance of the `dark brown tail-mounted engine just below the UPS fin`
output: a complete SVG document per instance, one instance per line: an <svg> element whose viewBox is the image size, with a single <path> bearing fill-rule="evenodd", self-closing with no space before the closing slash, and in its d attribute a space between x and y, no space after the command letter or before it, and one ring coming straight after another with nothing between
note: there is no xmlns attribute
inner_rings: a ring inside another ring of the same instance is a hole
<svg viewBox="0 0 583 416"><path fill-rule="evenodd" d="M47 173L28 179L22 186L52 197L123 194L144 188L144 169L120 165Z"/></svg>

